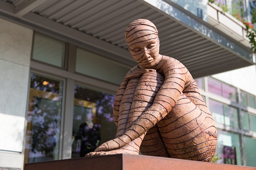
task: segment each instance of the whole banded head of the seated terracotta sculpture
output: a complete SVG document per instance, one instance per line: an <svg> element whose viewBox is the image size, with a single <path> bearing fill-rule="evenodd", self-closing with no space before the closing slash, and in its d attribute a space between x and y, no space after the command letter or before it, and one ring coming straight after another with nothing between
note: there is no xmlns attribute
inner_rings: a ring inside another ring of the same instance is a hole
<svg viewBox="0 0 256 170"><path fill-rule="evenodd" d="M137 19L125 31L125 40L133 58L144 68L151 68L159 62L159 38L154 23Z"/></svg>

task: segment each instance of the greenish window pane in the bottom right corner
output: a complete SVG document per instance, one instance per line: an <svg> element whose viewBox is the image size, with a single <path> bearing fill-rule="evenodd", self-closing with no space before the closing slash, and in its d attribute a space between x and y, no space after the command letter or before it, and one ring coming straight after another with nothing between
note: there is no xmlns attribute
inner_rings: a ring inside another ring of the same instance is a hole
<svg viewBox="0 0 256 170"><path fill-rule="evenodd" d="M255 146L256 146L256 139L252 139L250 137L244 137L244 155L245 155L246 166L256 167Z"/></svg>

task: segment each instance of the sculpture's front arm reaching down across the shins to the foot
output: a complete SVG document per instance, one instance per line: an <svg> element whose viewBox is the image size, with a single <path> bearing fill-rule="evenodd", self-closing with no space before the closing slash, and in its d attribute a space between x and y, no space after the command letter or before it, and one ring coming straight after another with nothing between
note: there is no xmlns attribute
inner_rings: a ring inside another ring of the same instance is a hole
<svg viewBox="0 0 256 170"><path fill-rule="evenodd" d="M172 110L175 103L181 95L184 84L190 74L187 68L178 61L175 66L165 64L163 73L165 76L164 83L159 89L153 104L144 111L132 126L126 132L112 140L103 144L95 151L110 151L123 147L125 144L132 142L139 136L147 132L148 129L155 126L159 120L167 115Z"/></svg>

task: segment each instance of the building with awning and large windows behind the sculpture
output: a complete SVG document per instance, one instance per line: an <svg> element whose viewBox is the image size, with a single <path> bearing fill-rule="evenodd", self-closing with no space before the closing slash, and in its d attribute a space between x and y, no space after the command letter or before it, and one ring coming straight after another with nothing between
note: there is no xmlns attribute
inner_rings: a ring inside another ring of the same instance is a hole
<svg viewBox="0 0 256 170"><path fill-rule="evenodd" d="M253 1L221 3L250 19ZM197 78L219 130L217 162L256 166L255 56L223 10L205 0L1 0L0 168L80 157L115 137L115 92L136 65L124 31L138 18Z"/></svg>

